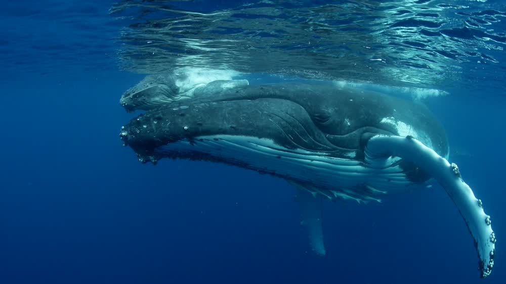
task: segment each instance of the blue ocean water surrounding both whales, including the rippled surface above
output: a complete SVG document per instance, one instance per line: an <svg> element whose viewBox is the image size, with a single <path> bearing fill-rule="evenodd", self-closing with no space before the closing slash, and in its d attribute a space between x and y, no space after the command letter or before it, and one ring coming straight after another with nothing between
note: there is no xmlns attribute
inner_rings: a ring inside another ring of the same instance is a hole
<svg viewBox="0 0 506 284"><path fill-rule="evenodd" d="M0 283L504 282L504 20L500 1L2 3ZM139 163L118 139L133 117L119 97L177 68L423 97L492 216L494 271L479 278L439 186L326 202L320 257L285 181Z"/></svg>

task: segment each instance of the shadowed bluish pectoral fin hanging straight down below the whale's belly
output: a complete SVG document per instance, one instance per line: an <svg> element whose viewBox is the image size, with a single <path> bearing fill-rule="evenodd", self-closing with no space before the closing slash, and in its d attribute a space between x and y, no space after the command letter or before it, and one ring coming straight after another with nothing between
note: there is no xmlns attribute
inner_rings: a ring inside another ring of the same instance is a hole
<svg viewBox="0 0 506 284"><path fill-rule="evenodd" d="M322 228L322 200L315 196L310 188L296 182L290 182L298 188L297 201L301 208L302 224L309 233L309 242L313 251L319 255L325 255L325 246L323 244Z"/></svg>

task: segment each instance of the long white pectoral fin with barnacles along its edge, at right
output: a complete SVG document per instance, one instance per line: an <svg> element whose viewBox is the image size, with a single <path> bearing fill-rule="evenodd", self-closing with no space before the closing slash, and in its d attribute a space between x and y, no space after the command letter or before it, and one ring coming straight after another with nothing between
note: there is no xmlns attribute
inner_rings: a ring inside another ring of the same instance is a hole
<svg viewBox="0 0 506 284"><path fill-rule="evenodd" d="M490 216L483 211L481 200L477 199L460 175L457 165L450 164L434 150L411 136L372 136L365 147L366 161L397 156L429 173L445 189L466 221L473 235L478 251L481 277L492 271L495 255L495 234L490 225Z"/></svg>

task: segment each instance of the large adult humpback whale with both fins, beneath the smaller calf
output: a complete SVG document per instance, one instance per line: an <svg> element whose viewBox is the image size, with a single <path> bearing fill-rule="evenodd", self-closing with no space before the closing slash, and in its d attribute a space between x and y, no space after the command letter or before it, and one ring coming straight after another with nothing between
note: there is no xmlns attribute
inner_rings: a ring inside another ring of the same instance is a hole
<svg viewBox="0 0 506 284"><path fill-rule="evenodd" d="M474 238L481 277L495 235L482 202L450 164L442 126L420 104L333 83L243 85L173 101L132 119L120 137L141 162L222 162L299 188L311 246L324 254L320 198L379 201L437 180ZM317 197L317 198L315 198Z"/></svg>

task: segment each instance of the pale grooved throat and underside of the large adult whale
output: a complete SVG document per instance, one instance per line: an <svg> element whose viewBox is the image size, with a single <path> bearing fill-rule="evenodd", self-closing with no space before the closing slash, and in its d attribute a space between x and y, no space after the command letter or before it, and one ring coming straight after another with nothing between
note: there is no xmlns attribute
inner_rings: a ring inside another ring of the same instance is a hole
<svg viewBox="0 0 506 284"><path fill-rule="evenodd" d="M270 139L250 136L200 136L159 147L155 154L157 157L221 161L305 184L306 190L315 196L354 199L359 203L380 202L378 197L386 193L428 185L410 181L399 166L371 168L361 161L286 149ZM390 160L393 164L398 159Z"/></svg>

